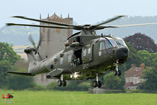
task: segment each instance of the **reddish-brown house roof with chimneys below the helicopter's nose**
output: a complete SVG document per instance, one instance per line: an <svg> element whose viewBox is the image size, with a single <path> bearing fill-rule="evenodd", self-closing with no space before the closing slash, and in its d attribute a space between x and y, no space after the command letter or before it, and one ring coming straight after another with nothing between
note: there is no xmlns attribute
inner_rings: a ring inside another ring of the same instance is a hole
<svg viewBox="0 0 157 105"><path fill-rule="evenodd" d="M141 64L141 67L132 65L132 67L125 72L125 77L141 77L143 71L145 71L144 64Z"/></svg>

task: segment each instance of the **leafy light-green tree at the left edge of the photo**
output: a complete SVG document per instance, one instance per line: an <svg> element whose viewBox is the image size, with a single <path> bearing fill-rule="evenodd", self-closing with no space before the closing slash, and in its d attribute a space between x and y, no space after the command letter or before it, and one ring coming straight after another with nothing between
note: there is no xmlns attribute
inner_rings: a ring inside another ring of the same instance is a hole
<svg viewBox="0 0 157 105"><path fill-rule="evenodd" d="M7 83L7 71L12 69L19 56L13 51L12 46L7 43L0 43L0 88Z"/></svg>

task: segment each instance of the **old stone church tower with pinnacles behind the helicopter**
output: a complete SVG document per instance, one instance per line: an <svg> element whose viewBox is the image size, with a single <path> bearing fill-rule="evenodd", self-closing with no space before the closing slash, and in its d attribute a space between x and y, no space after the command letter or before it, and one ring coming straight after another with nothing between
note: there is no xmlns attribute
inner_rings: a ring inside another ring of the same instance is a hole
<svg viewBox="0 0 157 105"><path fill-rule="evenodd" d="M73 18L70 18L69 15L67 18L62 16L57 16L55 13L52 16L49 16L46 19L48 21L55 21L59 23L73 24ZM40 23L40 25L52 25L46 23ZM54 25L53 25L54 26ZM51 57L57 52L64 49L64 43L67 38L72 35L72 29L54 29L54 28L40 28L40 47L39 53L42 59ZM52 79L46 79L46 74L36 75L34 78L35 82L42 85L47 85L52 82Z"/></svg>

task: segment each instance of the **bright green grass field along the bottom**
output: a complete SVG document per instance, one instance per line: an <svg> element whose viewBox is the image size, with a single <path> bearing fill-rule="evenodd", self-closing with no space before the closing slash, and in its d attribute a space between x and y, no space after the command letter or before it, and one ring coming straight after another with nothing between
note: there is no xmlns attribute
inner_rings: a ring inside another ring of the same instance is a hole
<svg viewBox="0 0 157 105"><path fill-rule="evenodd" d="M71 91L3 91L13 93L11 105L157 105L157 94L89 94ZM0 105L6 105L0 101Z"/></svg>

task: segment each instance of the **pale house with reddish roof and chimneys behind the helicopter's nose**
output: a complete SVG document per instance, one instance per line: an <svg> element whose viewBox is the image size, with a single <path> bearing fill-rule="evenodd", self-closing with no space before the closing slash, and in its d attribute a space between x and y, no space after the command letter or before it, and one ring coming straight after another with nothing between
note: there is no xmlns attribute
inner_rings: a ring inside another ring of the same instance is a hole
<svg viewBox="0 0 157 105"><path fill-rule="evenodd" d="M136 90L138 86L144 81L141 78L145 64L142 63L140 67L136 67L135 64L132 64L132 67L125 72L125 88L130 90Z"/></svg>

